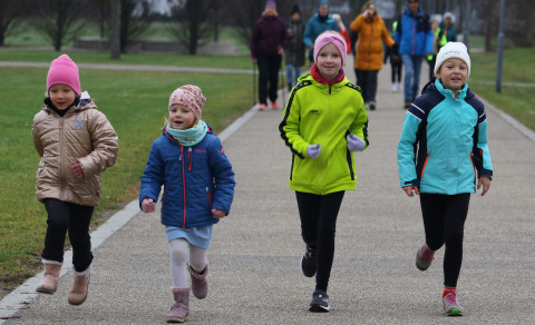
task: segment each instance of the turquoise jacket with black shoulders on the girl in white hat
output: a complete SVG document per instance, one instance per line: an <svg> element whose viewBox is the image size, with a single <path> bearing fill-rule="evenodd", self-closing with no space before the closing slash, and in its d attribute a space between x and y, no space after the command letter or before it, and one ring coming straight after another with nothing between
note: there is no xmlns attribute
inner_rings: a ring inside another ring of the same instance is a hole
<svg viewBox="0 0 535 325"><path fill-rule="evenodd" d="M398 144L401 187L420 193L475 193L477 178L493 176L483 102L465 83L454 93L428 83L408 109Z"/></svg>

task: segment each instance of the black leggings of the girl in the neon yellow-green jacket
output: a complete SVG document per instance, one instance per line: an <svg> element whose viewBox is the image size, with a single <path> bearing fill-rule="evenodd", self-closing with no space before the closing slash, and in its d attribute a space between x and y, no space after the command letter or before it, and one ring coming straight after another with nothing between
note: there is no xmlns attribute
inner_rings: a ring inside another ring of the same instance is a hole
<svg viewBox="0 0 535 325"><path fill-rule="evenodd" d="M315 288L324 292L331 276L337 217L343 195L344 191L328 195L295 191L301 218L301 236L307 245L318 252Z"/></svg>

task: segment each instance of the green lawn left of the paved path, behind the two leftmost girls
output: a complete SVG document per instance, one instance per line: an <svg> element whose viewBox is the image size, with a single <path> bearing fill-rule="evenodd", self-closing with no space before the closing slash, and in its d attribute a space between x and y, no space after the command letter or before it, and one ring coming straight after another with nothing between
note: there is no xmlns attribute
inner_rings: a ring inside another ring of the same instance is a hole
<svg viewBox="0 0 535 325"><path fill-rule="evenodd" d="M39 61L48 61L57 53L41 56L37 58ZM88 60L98 61L89 57ZM220 60L221 63L226 62L227 58L212 60ZM0 68L0 75L1 297L2 288L6 294L7 289L40 269L46 211L35 195L39 157L31 140L31 125L45 98L47 69ZM97 106L119 136L117 162L103 174L101 201L96 209L93 227L101 224L113 210L137 197L149 147L160 135L168 98L175 88L194 83L203 89L207 98L203 119L217 134L251 107L251 75L80 70L82 90L87 89L96 98Z"/></svg>

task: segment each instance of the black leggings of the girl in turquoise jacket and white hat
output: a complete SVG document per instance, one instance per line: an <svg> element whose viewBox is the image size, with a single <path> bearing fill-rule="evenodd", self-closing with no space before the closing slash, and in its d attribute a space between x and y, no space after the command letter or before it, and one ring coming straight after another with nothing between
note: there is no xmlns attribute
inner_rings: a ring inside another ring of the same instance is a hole
<svg viewBox="0 0 535 325"><path fill-rule="evenodd" d="M446 244L444 285L457 287L463 264L463 234L470 194L441 195L420 193L426 244L437 250Z"/></svg>

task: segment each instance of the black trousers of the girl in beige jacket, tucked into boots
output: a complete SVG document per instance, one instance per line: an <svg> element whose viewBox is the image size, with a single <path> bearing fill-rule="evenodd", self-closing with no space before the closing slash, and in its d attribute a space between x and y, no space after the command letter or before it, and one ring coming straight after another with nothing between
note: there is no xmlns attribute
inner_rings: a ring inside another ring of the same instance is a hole
<svg viewBox="0 0 535 325"><path fill-rule="evenodd" d="M93 262L89 224L95 208L55 198L43 199L43 204L48 213L48 227L41 257L62 263L65 236L68 233L72 245L72 265L77 272L86 270Z"/></svg>

